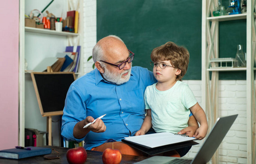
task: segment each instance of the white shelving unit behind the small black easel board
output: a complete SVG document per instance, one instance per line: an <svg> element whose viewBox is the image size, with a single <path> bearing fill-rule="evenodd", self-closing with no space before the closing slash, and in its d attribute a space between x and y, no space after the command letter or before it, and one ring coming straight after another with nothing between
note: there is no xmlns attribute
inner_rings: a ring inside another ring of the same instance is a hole
<svg viewBox="0 0 256 164"><path fill-rule="evenodd" d="M50 2L50 1L49 1ZM20 52L19 52L19 145L24 146L25 128L47 131L47 118L39 112L31 71L45 57L54 57L65 51L66 46L81 45L77 77L83 75L83 1L55 0L46 9L56 17L65 19L69 10L79 11L78 33L58 32L40 28L25 27L24 15L33 9L43 10L49 3L39 0L20 0ZM46 11L45 10L45 11ZM45 11L43 13L46 16ZM38 13L35 13L37 15ZM58 119L58 118L57 118ZM61 124L61 122L60 122ZM56 125L59 129L59 125ZM53 132L54 127L53 127ZM60 134L59 131L58 135Z"/></svg>

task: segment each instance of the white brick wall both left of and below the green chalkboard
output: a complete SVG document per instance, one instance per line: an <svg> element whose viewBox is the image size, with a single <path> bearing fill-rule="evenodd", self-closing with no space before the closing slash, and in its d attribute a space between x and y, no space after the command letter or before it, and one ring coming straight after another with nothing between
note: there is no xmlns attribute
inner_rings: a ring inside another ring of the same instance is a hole
<svg viewBox="0 0 256 164"><path fill-rule="evenodd" d="M84 72L92 71L93 61L87 62L96 44L96 0L84 1ZM184 80L202 102L201 80ZM238 114L234 125L219 147L219 163L247 163L246 137L246 81L220 80L219 116ZM202 143L199 141L198 143ZM186 157L194 157L201 147L195 145Z"/></svg>

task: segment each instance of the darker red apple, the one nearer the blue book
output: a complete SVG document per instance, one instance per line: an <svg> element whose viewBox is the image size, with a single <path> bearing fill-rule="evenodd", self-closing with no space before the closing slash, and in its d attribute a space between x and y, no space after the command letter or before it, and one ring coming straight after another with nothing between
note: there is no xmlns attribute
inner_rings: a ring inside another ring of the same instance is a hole
<svg viewBox="0 0 256 164"><path fill-rule="evenodd" d="M67 150L67 161L70 164L82 164L87 160L87 152L83 147Z"/></svg>

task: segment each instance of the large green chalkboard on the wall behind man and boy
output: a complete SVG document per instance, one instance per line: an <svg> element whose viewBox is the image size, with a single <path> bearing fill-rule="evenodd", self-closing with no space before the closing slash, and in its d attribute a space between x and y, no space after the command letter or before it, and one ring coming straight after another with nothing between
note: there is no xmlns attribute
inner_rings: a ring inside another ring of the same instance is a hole
<svg viewBox="0 0 256 164"><path fill-rule="evenodd" d="M224 4L227 7L227 3ZM133 66L150 66L153 48L168 41L185 46L190 63L184 80L201 80L202 1L97 1L97 40L114 34L135 53ZM220 22L220 57L246 50L246 20ZM244 79L245 72L220 72L220 79Z"/></svg>

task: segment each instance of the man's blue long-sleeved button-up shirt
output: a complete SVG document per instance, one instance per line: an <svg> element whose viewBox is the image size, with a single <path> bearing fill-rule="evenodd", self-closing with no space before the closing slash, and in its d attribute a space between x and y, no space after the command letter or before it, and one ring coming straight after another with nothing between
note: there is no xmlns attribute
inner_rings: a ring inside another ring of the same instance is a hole
<svg viewBox="0 0 256 164"><path fill-rule="evenodd" d="M145 118L144 91L156 83L153 73L142 67L132 67L127 83L116 85L105 81L98 69L74 81L67 92L62 116L61 135L66 140L84 140L85 148L106 142L107 139L121 141L124 137L134 136ZM83 138L73 136L77 122L93 116L104 115L106 131L90 131Z"/></svg>

